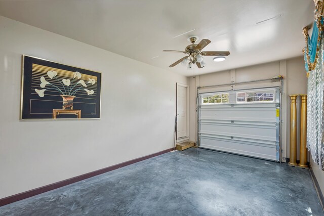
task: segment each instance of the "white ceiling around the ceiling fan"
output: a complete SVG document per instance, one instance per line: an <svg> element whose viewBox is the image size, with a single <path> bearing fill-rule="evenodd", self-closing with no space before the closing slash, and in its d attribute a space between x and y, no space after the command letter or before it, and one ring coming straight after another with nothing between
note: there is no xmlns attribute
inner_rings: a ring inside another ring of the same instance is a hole
<svg viewBox="0 0 324 216"><path fill-rule="evenodd" d="M195 74L301 56L313 10L312 0L0 1L2 16L185 76L193 71L168 67L185 54L162 51L184 51L191 35L212 41L204 51L231 53L205 57Z"/></svg>

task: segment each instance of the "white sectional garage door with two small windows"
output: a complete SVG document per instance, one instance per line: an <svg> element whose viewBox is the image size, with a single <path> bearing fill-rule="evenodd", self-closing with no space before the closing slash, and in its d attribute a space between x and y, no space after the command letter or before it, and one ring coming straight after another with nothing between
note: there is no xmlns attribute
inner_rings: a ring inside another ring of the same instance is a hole
<svg viewBox="0 0 324 216"><path fill-rule="evenodd" d="M279 88L199 94L201 148L279 161Z"/></svg>

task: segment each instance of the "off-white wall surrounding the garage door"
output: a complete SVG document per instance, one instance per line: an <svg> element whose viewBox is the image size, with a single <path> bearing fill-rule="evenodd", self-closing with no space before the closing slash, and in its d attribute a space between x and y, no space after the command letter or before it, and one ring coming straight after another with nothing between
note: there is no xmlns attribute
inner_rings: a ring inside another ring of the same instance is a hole
<svg viewBox="0 0 324 216"><path fill-rule="evenodd" d="M289 158L289 128L290 128L290 98L289 94L307 94L307 77L304 69L303 57L288 60L269 62L260 65L252 65L244 68L233 69L235 71L235 82L251 81L257 79L271 78L276 75L284 75L284 88L282 92L282 157ZM230 70L204 74L195 78L188 78L190 87L190 140L196 140L196 89L206 85L230 83ZM285 100L286 98L286 100ZM297 103L300 115L300 99ZM288 116L288 118L286 117ZM298 118L299 119L299 118ZM298 121L299 123L299 121ZM287 126L286 126L287 124ZM299 130L298 130L299 133ZM299 148L299 134L297 136ZM299 154L299 151L298 151ZM297 156L299 159L299 155ZM283 160L285 161L285 160Z"/></svg>

